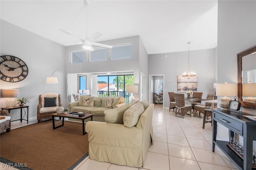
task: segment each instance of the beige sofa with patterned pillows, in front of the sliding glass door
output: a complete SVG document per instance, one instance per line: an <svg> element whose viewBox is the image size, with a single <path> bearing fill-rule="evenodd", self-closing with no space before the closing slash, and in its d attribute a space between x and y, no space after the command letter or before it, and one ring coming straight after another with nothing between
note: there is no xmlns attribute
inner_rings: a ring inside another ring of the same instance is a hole
<svg viewBox="0 0 256 170"><path fill-rule="evenodd" d="M125 105L124 97L91 97L90 95L80 95L79 101L68 103L67 106L68 111L92 114L92 121L105 122L104 111L122 105Z"/></svg>

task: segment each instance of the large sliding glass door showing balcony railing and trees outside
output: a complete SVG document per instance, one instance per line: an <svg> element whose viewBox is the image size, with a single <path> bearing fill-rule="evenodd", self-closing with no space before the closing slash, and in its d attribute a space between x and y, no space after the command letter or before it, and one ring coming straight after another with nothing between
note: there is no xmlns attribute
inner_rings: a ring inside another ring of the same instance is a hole
<svg viewBox="0 0 256 170"><path fill-rule="evenodd" d="M126 85L133 85L133 75L98 76L98 97L123 96L125 103L129 102L130 93L126 93Z"/></svg>

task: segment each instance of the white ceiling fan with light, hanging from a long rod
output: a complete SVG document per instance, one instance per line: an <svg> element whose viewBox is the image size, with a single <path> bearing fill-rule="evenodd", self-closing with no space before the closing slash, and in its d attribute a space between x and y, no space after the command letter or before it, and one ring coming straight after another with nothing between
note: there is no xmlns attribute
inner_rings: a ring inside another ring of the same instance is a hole
<svg viewBox="0 0 256 170"><path fill-rule="evenodd" d="M100 32L94 33L92 36L88 37L87 32L88 32L88 5L90 4L89 0L84 0L84 3L86 4L86 39L80 38L78 36L75 36L74 34L71 34L65 30L60 29L61 32L64 32L65 34L68 34L70 36L74 36L78 39L80 39L82 42L82 47L86 50L94 51L92 48L92 45L100 46L100 47L107 47L107 48L112 48L111 45L106 45L102 43L96 43L94 40L99 38L102 34ZM84 7L83 7L84 8ZM82 8L82 9L83 9ZM80 44L80 43L75 43L75 44Z"/></svg>

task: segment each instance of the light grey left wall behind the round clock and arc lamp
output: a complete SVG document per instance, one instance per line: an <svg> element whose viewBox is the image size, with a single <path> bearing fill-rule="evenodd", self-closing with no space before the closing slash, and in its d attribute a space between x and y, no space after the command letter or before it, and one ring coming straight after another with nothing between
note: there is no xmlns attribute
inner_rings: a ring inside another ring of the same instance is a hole
<svg viewBox="0 0 256 170"><path fill-rule="evenodd" d="M66 81L61 72L54 73L58 84L46 84L56 69L64 71L64 46L42 38L32 32L0 20L0 55L13 55L22 59L28 65L28 76L17 83L0 80L0 89L20 89L20 97L25 97L30 103L29 118L36 117L38 96L42 93L55 92L61 94L62 104L66 102ZM1 107L6 107L7 98L0 99ZM12 120L20 118L20 110L12 110Z"/></svg>

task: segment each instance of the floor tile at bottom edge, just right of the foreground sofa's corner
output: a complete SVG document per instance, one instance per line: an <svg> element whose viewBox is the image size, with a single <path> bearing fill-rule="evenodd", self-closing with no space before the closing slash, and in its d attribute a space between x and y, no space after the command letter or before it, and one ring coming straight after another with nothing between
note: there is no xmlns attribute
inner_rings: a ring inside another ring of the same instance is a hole
<svg viewBox="0 0 256 170"><path fill-rule="evenodd" d="M148 152L143 168L147 170L170 170L169 156Z"/></svg>

